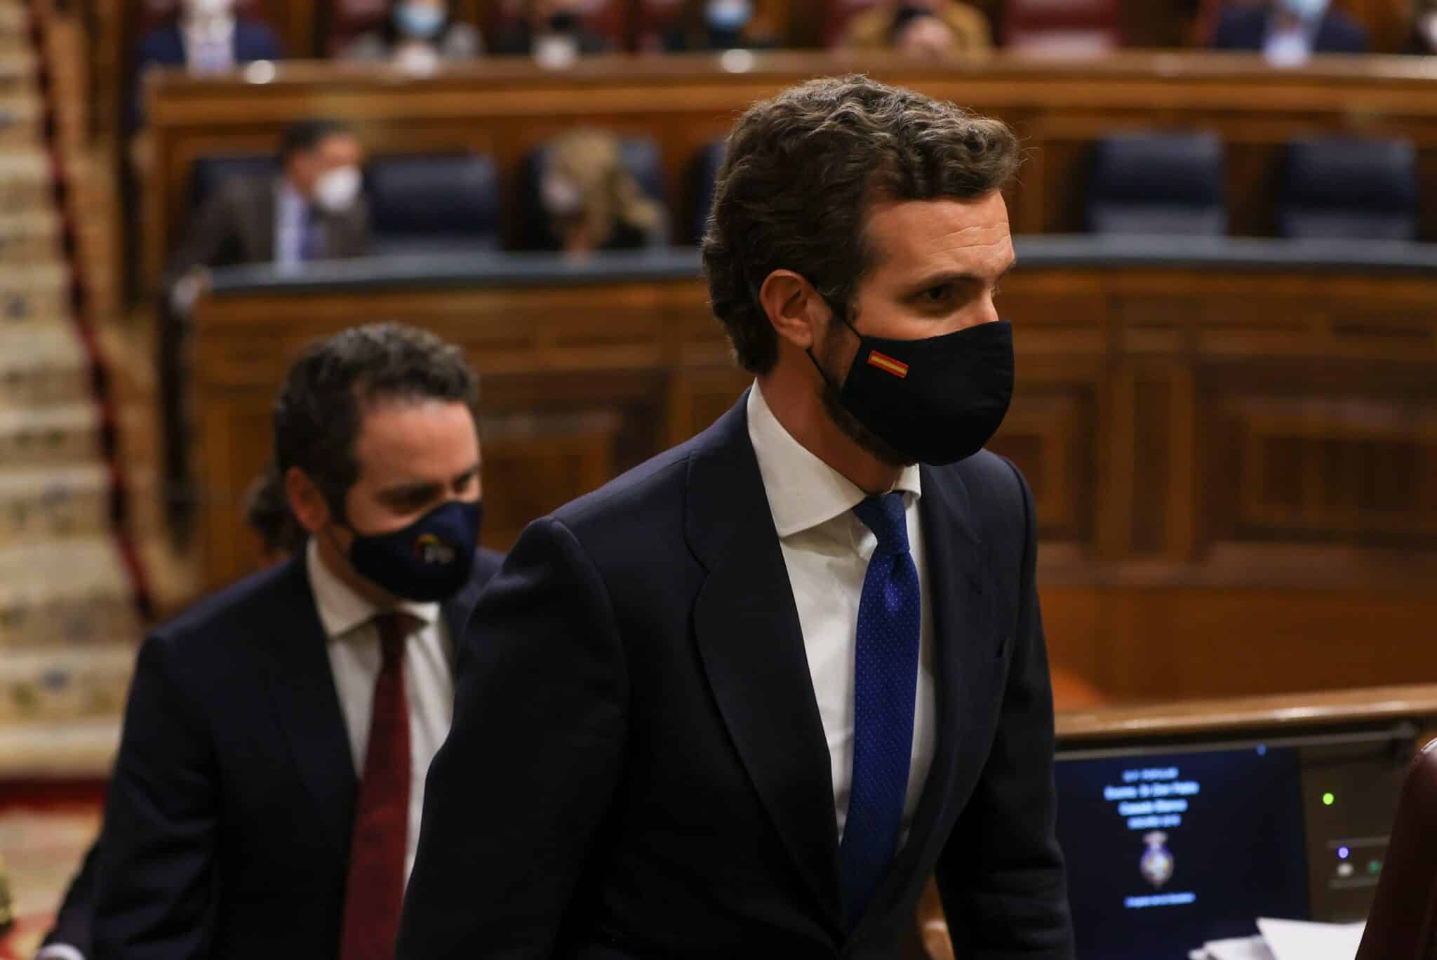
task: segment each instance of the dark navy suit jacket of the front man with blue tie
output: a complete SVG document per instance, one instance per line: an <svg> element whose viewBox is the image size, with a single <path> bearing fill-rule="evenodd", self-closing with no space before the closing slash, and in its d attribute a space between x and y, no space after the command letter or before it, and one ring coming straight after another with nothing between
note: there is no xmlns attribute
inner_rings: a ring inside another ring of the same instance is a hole
<svg viewBox="0 0 1437 960"><path fill-rule="evenodd" d="M923 469L937 750L852 934L828 743L744 401L535 522L474 611L401 960L884 959L937 872L958 956L1072 956L1036 522Z"/></svg>

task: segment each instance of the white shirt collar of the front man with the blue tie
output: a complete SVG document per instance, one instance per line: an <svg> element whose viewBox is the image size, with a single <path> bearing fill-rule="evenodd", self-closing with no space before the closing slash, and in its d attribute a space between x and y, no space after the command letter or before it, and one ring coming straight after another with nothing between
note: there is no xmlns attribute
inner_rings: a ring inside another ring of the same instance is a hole
<svg viewBox="0 0 1437 960"><path fill-rule="evenodd" d="M754 382L749 391L749 440L759 458L759 474L769 494L769 510L779 537L810 530L842 516L868 496L862 487L813 456L793 438L769 410ZM923 496L918 467L905 467L894 490Z"/></svg>

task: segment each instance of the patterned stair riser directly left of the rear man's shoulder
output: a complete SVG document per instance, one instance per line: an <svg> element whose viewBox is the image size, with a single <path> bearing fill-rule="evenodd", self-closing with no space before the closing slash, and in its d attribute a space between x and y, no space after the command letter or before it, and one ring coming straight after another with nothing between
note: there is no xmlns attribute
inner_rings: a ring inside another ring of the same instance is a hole
<svg viewBox="0 0 1437 960"><path fill-rule="evenodd" d="M86 650L6 651L0 726L119 716L134 668L131 638Z"/></svg>

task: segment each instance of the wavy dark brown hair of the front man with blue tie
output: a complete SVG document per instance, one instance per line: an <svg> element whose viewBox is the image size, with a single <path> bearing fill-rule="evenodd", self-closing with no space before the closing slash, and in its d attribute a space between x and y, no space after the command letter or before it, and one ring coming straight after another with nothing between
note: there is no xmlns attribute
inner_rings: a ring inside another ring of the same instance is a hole
<svg viewBox="0 0 1437 960"><path fill-rule="evenodd" d="M835 309L875 266L878 201L977 200L1022 162L1002 121L867 76L828 78L762 101L729 134L703 241L714 315L739 364L766 374L779 341L757 292L793 270Z"/></svg>

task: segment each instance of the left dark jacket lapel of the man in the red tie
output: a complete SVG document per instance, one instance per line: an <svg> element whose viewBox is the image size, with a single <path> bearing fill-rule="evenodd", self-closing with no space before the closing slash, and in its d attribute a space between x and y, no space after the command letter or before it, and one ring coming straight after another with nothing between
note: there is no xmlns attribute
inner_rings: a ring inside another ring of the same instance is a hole
<svg viewBox="0 0 1437 960"><path fill-rule="evenodd" d="M274 611L280 622L270 628L270 693L326 832L348 857L358 779L303 553L289 560L283 588Z"/></svg>

